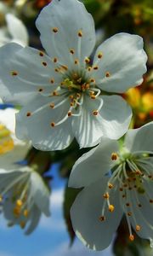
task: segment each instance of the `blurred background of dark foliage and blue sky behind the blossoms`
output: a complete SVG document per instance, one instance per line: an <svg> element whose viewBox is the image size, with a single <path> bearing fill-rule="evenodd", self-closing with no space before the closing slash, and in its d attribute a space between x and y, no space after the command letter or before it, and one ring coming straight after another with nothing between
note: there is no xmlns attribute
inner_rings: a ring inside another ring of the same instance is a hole
<svg viewBox="0 0 153 256"><path fill-rule="evenodd" d="M42 49L35 20L41 9L50 2L49 0L0 1L0 46L12 40L16 42L20 40L23 45L29 44L31 47ZM148 55L148 72L144 75L143 84L122 95L133 108L131 128L144 125L153 118L153 1L82 0L82 2L94 17L97 45L118 32L138 34L144 38L144 49ZM21 20L23 37L19 38L12 30L10 19L7 18L8 14ZM9 107L14 108L12 105ZM8 106L2 103L1 108ZM69 212L79 191L67 189L66 186L71 167L84 152L84 149L79 150L75 141L69 148L58 152L40 152L31 148L26 161L37 164L48 182L51 189L52 215L50 218L42 216L37 230L30 236L25 236L18 226L8 228L5 219L0 216L0 256L79 256L80 253L83 256L152 255L147 241L142 241L139 237L136 237L134 243L128 241L124 219L111 246L103 252L88 251L75 237Z"/></svg>

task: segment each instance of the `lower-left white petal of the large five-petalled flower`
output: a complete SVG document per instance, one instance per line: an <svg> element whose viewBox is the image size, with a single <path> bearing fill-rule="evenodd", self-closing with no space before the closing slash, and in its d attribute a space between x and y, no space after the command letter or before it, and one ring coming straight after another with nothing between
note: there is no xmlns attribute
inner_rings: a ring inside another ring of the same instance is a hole
<svg viewBox="0 0 153 256"><path fill-rule="evenodd" d="M50 108L51 102L56 104L55 98L39 95L28 106L22 108L16 115L16 136L20 139L29 137L33 146L42 150L68 147L73 139L71 118L61 125L52 127L51 124L56 124L65 117L70 103L67 101L59 108ZM27 113L31 113L31 116L27 116Z"/></svg>

